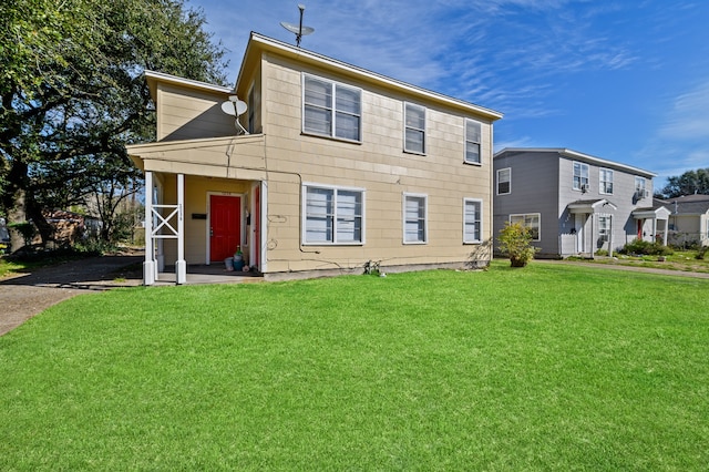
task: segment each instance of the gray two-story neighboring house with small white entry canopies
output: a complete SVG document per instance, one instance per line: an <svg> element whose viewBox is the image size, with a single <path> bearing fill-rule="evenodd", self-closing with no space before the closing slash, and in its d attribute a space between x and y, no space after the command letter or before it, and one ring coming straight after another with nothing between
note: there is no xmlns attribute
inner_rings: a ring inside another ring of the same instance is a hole
<svg viewBox="0 0 709 472"><path fill-rule="evenodd" d="M669 209L654 205L638 167L567 148L504 148L493 156L493 228L532 229L537 257L594 257L636 238L667 244Z"/></svg>

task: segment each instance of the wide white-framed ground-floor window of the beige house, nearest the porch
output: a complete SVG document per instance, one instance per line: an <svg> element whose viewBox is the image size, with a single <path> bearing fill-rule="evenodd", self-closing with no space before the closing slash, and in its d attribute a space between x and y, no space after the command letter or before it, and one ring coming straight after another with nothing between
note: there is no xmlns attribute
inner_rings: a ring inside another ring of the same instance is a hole
<svg viewBox="0 0 709 472"><path fill-rule="evenodd" d="M364 191L304 185L305 244L362 244Z"/></svg>

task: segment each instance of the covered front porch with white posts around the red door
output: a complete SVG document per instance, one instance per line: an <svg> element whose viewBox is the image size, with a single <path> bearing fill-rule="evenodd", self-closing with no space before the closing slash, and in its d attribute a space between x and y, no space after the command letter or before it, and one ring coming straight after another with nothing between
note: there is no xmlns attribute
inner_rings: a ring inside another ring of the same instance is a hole
<svg viewBox="0 0 709 472"><path fill-rule="evenodd" d="M263 141L256 135L130 146L145 174L145 285L243 280L264 271Z"/></svg>

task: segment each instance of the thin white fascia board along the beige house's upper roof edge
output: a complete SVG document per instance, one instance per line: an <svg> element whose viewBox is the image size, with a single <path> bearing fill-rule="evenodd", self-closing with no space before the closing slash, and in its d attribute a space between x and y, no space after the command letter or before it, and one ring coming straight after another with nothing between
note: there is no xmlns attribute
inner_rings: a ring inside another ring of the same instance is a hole
<svg viewBox="0 0 709 472"><path fill-rule="evenodd" d="M244 60L242 61L242 69L239 70L239 75L236 81L237 84L242 80L242 75L244 73L244 64L246 63L246 59L249 57L249 52L251 48L254 48L254 44L260 44L263 47L269 48L270 50L278 51L281 54L287 57L291 57L291 58L295 57L300 60L308 60L310 62L315 62L328 68L338 69L351 75L359 75L369 81L377 82L386 88L397 89L400 92L403 92L409 95L418 95L428 100L445 103L459 109L462 107L470 111L471 113L474 113L477 115L484 115L491 121L500 120L501 117L503 117L503 114L501 112L486 109L484 106L475 105L474 103L465 102L463 100L454 99L452 96L443 95L441 93L422 89L415 85L411 85L409 83L399 81L397 79L391 79L386 75L381 75L376 72L371 72L366 69L338 61L337 59L318 54L317 52L308 51L301 48L296 48L288 43L275 40L273 38L264 37L256 32L251 32L251 37L249 39L248 45L246 47L246 52L244 53Z"/></svg>

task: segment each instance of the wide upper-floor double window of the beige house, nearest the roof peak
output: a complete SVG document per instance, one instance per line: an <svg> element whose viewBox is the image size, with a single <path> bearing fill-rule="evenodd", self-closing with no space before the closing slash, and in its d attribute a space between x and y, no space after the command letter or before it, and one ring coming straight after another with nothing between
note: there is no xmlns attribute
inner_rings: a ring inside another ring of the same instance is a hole
<svg viewBox="0 0 709 472"><path fill-rule="evenodd" d="M361 90L304 75L302 131L361 141Z"/></svg>

